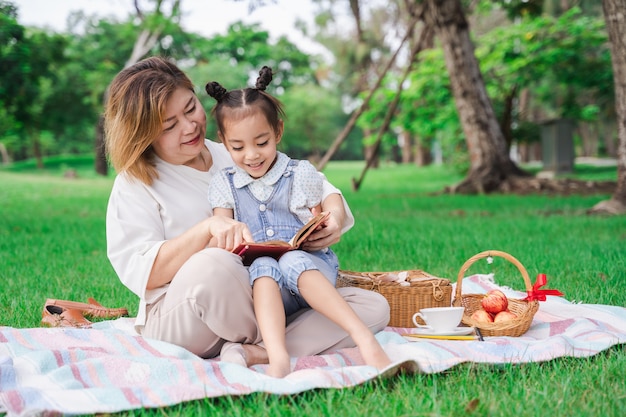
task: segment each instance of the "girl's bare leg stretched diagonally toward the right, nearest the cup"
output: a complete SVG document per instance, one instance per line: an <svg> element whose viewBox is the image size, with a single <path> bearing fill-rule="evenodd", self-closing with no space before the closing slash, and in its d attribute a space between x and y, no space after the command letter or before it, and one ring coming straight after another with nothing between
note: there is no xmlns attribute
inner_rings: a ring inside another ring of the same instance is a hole
<svg viewBox="0 0 626 417"><path fill-rule="evenodd" d="M378 369L391 364L374 334L321 272L304 271L298 279L298 289L314 310L331 319L350 335L366 364Z"/></svg>

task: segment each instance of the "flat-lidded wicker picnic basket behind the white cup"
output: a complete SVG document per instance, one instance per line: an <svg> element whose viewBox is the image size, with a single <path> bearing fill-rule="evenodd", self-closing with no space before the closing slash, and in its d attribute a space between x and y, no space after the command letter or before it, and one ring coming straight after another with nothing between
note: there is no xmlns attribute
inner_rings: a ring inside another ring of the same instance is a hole
<svg viewBox="0 0 626 417"><path fill-rule="evenodd" d="M382 281L383 275L407 273L405 285ZM357 287L376 291L389 302L391 318L389 326L415 327L411 318L422 308L450 307L452 285L449 279L438 278L420 270L393 272L339 271L337 288ZM420 320L420 324L424 324Z"/></svg>

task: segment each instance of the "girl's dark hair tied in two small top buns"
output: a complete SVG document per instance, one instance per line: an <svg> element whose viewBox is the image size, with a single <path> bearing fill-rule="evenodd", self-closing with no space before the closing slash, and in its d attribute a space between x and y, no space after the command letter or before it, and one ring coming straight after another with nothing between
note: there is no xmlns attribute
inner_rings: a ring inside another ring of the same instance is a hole
<svg viewBox="0 0 626 417"><path fill-rule="evenodd" d="M206 92L217 101L211 110L217 122L217 131L223 134L226 117L241 120L260 110L274 132L279 132L285 112L280 100L265 92L271 81L272 69L265 66L259 71L254 88L227 91L216 81L207 83Z"/></svg>

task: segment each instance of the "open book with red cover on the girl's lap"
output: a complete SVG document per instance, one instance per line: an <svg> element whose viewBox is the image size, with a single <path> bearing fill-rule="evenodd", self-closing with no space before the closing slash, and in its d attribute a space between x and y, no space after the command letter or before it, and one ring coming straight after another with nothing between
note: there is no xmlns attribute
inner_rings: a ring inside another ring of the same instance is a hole
<svg viewBox="0 0 626 417"><path fill-rule="evenodd" d="M271 256L274 259L280 258L285 252L298 249L302 242L304 242L311 233L313 233L326 219L328 219L330 213L323 211L316 216L313 216L311 220L296 232L289 242L282 240L270 240L267 242L259 243L247 243L244 242L241 245L233 249L233 253L241 256L243 264L248 266L256 258L260 256Z"/></svg>

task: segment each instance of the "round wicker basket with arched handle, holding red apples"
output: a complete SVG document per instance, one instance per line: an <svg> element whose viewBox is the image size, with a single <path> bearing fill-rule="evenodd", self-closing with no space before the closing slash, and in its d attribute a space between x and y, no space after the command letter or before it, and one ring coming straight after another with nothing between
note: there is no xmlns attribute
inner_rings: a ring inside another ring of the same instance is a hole
<svg viewBox="0 0 626 417"><path fill-rule="evenodd" d="M462 322L468 326L478 327L483 336L521 336L526 333L530 328L533 317L537 312L537 309L539 308L538 301L525 301L509 298L508 309L509 311L517 315L517 318L513 320L501 321L498 323L485 323L472 320L471 318L471 315L476 310L480 310L482 308L481 301L484 298L485 294L462 294L461 283L463 282L463 276L474 262L479 259L491 256L499 256L515 265L519 272L522 274L524 284L526 285L526 290L532 290L532 284L530 282L528 272L526 271L526 268L524 268L524 266L520 263L520 261L518 261L506 252L490 250L472 256L467 261L465 261L465 263L461 267L459 275L457 276L454 305L465 307Z"/></svg>

